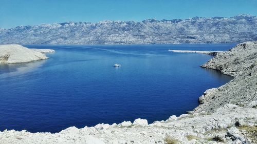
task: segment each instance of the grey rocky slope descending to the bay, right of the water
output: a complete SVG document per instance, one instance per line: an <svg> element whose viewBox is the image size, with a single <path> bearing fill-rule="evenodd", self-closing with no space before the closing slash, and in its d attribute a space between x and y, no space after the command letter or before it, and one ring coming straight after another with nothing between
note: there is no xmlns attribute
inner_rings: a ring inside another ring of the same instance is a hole
<svg viewBox="0 0 257 144"><path fill-rule="evenodd" d="M234 77L219 88L207 90L199 97L195 112L214 112L226 104L247 106L257 100L257 42L238 44L220 52L203 66Z"/></svg>

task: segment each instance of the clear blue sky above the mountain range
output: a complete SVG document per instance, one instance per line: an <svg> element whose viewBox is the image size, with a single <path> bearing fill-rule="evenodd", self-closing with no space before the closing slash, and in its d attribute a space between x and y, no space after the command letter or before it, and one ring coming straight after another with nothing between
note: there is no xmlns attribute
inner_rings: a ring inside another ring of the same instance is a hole
<svg viewBox="0 0 257 144"><path fill-rule="evenodd" d="M0 28L61 22L257 15L257 0L1 0Z"/></svg>

